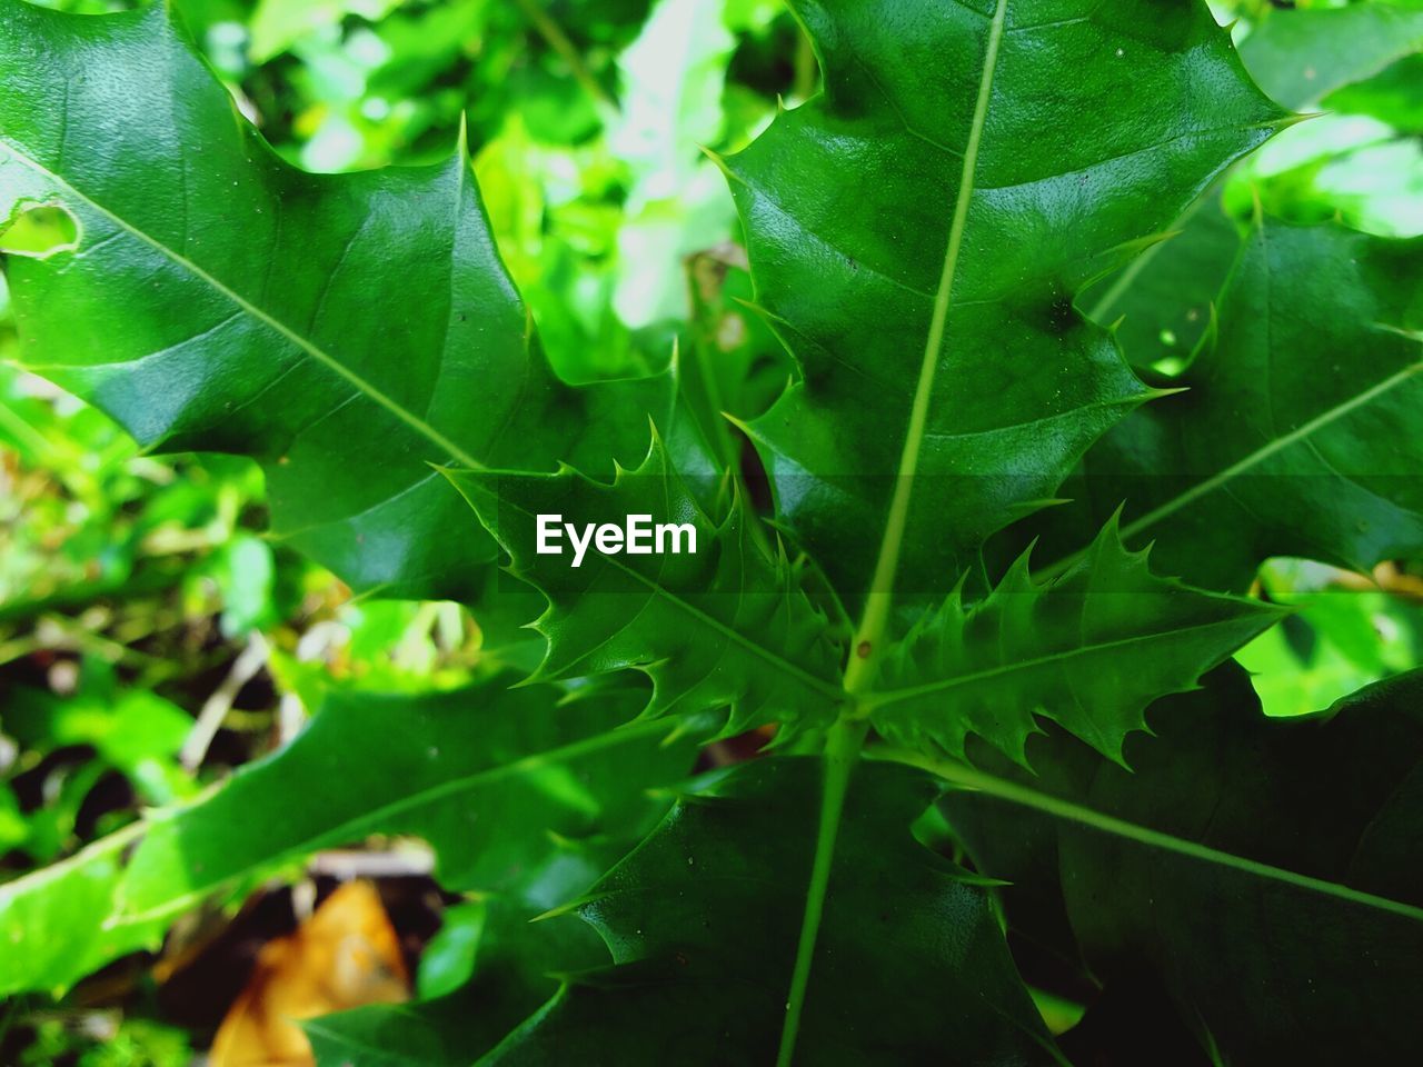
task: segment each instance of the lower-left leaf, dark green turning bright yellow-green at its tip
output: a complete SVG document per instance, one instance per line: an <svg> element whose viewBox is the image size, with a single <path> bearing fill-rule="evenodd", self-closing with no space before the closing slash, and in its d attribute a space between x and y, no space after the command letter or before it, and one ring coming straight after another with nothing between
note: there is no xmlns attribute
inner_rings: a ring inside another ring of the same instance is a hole
<svg viewBox="0 0 1423 1067"><path fill-rule="evenodd" d="M154 947L168 920L235 881L377 832L425 838L453 891L525 892L549 855L591 881L599 854L581 842L636 832L657 809L645 790L684 774L692 745L667 744L667 724L618 728L640 690L559 701L551 686L502 684L333 694L289 748L216 792L0 886L0 940L13 946L0 992L63 987Z"/></svg>

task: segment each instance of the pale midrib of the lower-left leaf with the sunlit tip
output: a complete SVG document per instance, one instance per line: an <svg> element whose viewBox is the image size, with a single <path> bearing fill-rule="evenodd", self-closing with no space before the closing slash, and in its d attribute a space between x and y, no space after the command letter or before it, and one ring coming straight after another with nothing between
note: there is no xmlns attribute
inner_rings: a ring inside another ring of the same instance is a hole
<svg viewBox="0 0 1423 1067"><path fill-rule="evenodd" d="M514 760L511 763L499 764L497 767L487 767L484 770L475 771L474 774L465 774L460 778L451 778L437 785L431 785L428 788L406 794L400 800L391 801L390 804L383 804L379 808L371 808L370 811L361 812L360 815L349 818L344 822L340 822L334 827L327 827L322 829L319 834L307 838L306 841L287 845L286 848L273 854L263 862L276 864L287 856L300 855L302 852L306 852L312 848L317 848L323 841L347 839L361 827L380 822L394 815L400 815L406 811L410 811L411 808L420 808L427 804L434 804L440 800L444 800L445 797L451 797L460 792L467 792L470 790L477 790L484 785L501 781L504 778L521 777L531 771L536 771L541 767L568 763L571 760L576 760L582 755L588 755L591 753L596 753L603 748L612 748L619 744L639 741L647 736L657 733L675 733L675 728L669 728L669 724L665 720L633 721L629 723L628 726L610 730L603 734L585 737L581 741L572 741L569 744L559 745L556 748L546 748L541 753L529 753L527 755L521 755L518 760ZM141 827L142 824L135 824L135 825ZM174 896L155 908L149 908L142 912L131 912L127 915L121 915L110 925L128 926L144 922L152 922L157 919L165 919L169 915L191 908L194 903L206 896L213 889L213 886L221 885L222 882L226 882L232 878L238 878L250 869L252 868L245 868L243 871L236 871L231 875L225 875L221 879L206 882L199 886L194 886L181 896Z"/></svg>

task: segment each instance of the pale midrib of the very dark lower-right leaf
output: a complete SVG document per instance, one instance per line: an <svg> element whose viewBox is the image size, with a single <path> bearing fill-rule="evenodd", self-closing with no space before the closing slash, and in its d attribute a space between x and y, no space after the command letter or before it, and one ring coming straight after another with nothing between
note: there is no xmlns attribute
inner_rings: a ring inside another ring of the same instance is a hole
<svg viewBox="0 0 1423 1067"><path fill-rule="evenodd" d="M888 758L888 753L884 754ZM1053 818L1063 819L1067 822L1076 822L1090 829L1100 831L1103 834L1110 834L1113 837L1124 838L1127 841L1134 841L1147 848L1155 848L1165 852L1175 852L1177 855L1190 856L1191 859L1200 859L1201 862L1214 864L1217 866L1227 866L1234 871L1241 871L1244 874L1252 875L1255 878L1262 878L1272 882L1281 882L1285 885L1295 886L1296 889L1305 889L1308 892L1321 893L1322 896L1331 896L1339 901L1348 901L1349 903L1362 905L1365 908L1373 908L1382 912L1389 912L1392 915L1399 915L1405 919L1413 919L1414 922L1423 922L1423 908L1417 908L1402 901L1393 901L1387 896L1379 896L1376 893L1369 893L1362 889L1355 889L1339 882L1329 882L1323 878L1312 878L1311 875L1302 875L1298 871L1289 871L1282 866L1272 866L1271 864L1262 864L1257 859L1249 859L1248 856L1238 856L1234 852L1225 852L1218 848L1211 848L1210 845L1202 845L1198 841L1190 841L1187 838L1178 838L1171 834L1164 834L1158 829L1151 829L1150 827L1143 827L1137 822L1128 822L1127 819L1120 819L1114 815L1107 815L1093 808L1087 808L1081 804L1073 804L1072 801L1064 801L1060 797L1052 797L1046 792L1039 792L1037 790L1029 788L1026 785L1019 785L1015 781L1007 781L999 778L993 774L970 767L965 763L958 763L955 760L931 760L924 758L912 751L894 753L894 758L898 763L909 763L924 770L932 771L945 781L953 782L955 785L962 785L970 790L976 790L989 797L996 797L998 800L1007 801L1009 804L1017 804L1019 807L1033 808L1044 815L1052 815Z"/></svg>

